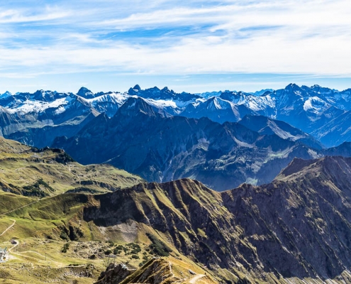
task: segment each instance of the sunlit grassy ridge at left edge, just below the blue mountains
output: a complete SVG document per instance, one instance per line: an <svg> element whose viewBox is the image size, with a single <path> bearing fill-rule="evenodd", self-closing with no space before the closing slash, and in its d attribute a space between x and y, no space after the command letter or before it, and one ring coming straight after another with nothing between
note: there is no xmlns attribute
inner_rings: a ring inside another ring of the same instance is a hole
<svg viewBox="0 0 351 284"><path fill-rule="evenodd" d="M36 149L0 138L0 189L17 195L45 197L67 190L108 192L141 178L111 165L80 165L59 149Z"/></svg>

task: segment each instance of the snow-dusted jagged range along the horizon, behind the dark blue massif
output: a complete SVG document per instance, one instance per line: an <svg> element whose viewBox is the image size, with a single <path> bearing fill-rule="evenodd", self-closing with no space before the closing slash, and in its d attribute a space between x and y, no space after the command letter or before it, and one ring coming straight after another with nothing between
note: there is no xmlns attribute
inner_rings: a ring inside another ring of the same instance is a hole
<svg viewBox="0 0 351 284"><path fill-rule="evenodd" d="M186 116L196 119L208 117L221 124L225 121L240 121L245 115L267 116L270 119L285 121L291 126L310 133L328 147L351 140L351 129L347 124L347 117L350 116L351 111L351 89L338 91L318 85L299 87L296 84L289 84L284 89L264 89L255 93L236 91L204 94L177 93L167 87L141 89L138 84L124 93L98 92L94 94L86 87L79 89L77 94L43 90L38 90L33 94L6 92L0 96L0 106L4 108L1 109L2 112L16 114L17 122L13 123L23 124L23 129L42 129L48 126L51 131L49 136L55 136L55 133L64 131L64 129L56 131L53 128L60 123L57 124L51 120L52 116L45 117L48 115L48 109L52 110L55 116L61 116L71 104L80 99L81 104L91 109L91 112L96 111L94 116L105 112L108 117L112 117L130 97L143 97L149 104L165 111L169 116ZM26 123L28 116L30 116L30 121L39 121L40 124ZM10 117L8 120L13 121ZM63 120L67 122L66 125L72 125L69 119L64 117L61 121ZM6 131L3 121L0 121L0 127L4 136L30 143L32 146L45 146L45 143L49 145L55 138L44 140L42 145L38 145L36 144L38 141L35 141L34 138L23 138L23 136L30 135L24 130L15 127L11 131ZM84 126L77 121L79 119L74 120L74 130L69 131L68 136L74 135ZM13 134L18 131L21 134ZM35 131L35 133L38 132L41 131ZM10 134L13 135L9 136Z"/></svg>

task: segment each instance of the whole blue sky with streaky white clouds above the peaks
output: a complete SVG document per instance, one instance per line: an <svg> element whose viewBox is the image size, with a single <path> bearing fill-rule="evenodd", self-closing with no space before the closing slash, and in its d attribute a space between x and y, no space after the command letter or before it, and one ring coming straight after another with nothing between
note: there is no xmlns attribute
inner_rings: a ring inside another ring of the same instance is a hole
<svg viewBox="0 0 351 284"><path fill-rule="evenodd" d="M350 0L0 4L0 93L351 88Z"/></svg>

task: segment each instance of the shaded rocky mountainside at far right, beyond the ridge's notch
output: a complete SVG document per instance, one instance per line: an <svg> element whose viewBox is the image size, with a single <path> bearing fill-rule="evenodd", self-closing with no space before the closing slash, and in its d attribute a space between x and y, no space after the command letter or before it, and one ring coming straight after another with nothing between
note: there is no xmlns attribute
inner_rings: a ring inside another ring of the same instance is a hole
<svg viewBox="0 0 351 284"><path fill-rule="evenodd" d="M270 185L223 193L264 271L326 279L350 268L350 165L347 158L296 159Z"/></svg>

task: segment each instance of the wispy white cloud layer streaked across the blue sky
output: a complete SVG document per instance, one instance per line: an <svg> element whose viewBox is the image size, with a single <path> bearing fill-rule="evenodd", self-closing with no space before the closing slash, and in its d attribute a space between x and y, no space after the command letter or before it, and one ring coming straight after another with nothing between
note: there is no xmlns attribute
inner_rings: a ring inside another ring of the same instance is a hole
<svg viewBox="0 0 351 284"><path fill-rule="evenodd" d="M101 70L350 76L350 14L349 0L15 7L0 10L7 27L0 33L0 66L11 77Z"/></svg>

